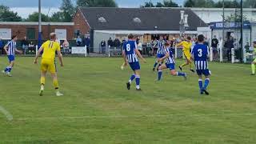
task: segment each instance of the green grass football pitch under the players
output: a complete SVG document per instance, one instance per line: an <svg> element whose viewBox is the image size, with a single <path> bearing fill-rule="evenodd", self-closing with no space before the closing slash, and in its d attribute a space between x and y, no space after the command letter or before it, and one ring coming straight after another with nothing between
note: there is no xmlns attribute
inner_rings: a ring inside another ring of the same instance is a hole
<svg viewBox="0 0 256 144"><path fill-rule="evenodd" d="M198 94L198 78L163 73L154 82L153 58L142 64L142 92L126 90L131 71L122 58L64 58L55 97L50 76L38 96L39 66L17 58L13 78L0 77L0 143L255 143L255 77L250 65L210 63L210 96ZM180 64L182 61L178 61ZM0 66L6 66L5 57Z"/></svg>

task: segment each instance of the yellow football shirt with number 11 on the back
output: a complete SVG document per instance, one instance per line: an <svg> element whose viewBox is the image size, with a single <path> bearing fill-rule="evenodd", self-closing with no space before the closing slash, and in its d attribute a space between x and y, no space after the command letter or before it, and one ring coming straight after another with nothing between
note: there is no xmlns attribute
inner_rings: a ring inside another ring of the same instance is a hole
<svg viewBox="0 0 256 144"><path fill-rule="evenodd" d="M46 41L42 44L42 49L43 49L42 58L54 60L55 52L57 50L60 51L61 46L59 45L58 42Z"/></svg>

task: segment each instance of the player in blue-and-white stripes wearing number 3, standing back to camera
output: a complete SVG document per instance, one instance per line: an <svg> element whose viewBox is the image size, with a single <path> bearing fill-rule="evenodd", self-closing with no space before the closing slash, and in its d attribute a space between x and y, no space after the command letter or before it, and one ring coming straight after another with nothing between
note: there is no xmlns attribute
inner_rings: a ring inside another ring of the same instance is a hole
<svg viewBox="0 0 256 144"><path fill-rule="evenodd" d="M209 57L209 48L204 45L204 36L198 35L198 44L196 44L191 52L192 58L194 59L194 65L198 73L198 84L200 88L200 93L205 93L209 95L207 91L207 86L210 83L210 70L208 68L208 57ZM206 80L204 86L202 86L202 75L205 75Z"/></svg>

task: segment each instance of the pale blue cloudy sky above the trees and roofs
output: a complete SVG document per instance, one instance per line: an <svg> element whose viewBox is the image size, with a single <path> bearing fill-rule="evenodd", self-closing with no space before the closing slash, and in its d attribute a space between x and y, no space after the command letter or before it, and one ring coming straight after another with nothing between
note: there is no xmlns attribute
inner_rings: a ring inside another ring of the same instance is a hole
<svg viewBox="0 0 256 144"><path fill-rule="evenodd" d="M75 0L71 0L75 3ZM115 0L119 7L139 7L144 2L150 0ZM163 0L151 0L152 2L162 2ZM182 5L185 0L174 0L179 5ZM58 11L62 0L42 0L42 13L53 14ZM22 18L27 18L29 14L38 11L38 0L0 0L0 5L9 6L11 10L18 12Z"/></svg>

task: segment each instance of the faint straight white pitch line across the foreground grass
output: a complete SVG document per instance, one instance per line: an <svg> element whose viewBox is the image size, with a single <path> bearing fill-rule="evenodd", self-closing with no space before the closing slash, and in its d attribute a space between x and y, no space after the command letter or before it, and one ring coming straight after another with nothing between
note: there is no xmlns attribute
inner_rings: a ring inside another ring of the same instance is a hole
<svg viewBox="0 0 256 144"><path fill-rule="evenodd" d="M169 117L203 117L203 116L254 116L256 114L168 114L168 115L113 115L113 116L78 116L78 117L42 117L42 118L16 118L18 121L26 120L52 120L52 119L104 119L104 118L169 118Z"/></svg>

